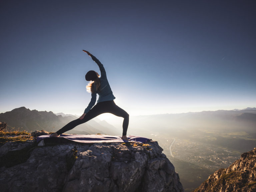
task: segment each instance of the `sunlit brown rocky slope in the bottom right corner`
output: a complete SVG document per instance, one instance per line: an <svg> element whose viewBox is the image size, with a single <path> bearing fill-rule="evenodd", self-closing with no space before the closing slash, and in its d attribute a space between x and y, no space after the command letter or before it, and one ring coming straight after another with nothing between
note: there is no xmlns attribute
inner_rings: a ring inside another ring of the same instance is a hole
<svg viewBox="0 0 256 192"><path fill-rule="evenodd" d="M226 169L215 171L194 192L255 192L256 148Z"/></svg>

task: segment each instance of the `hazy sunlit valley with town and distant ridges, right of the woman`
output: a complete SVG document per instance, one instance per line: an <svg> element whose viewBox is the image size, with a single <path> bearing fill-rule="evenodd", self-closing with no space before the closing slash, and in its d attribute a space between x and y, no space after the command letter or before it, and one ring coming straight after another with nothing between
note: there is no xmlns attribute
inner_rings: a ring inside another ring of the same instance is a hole
<svg viewBox="0 0 256 192"><path fill-rule="evenodd" d="M256 147L256 108L137 116L130 129L158 141L188 192Z"/></svg>

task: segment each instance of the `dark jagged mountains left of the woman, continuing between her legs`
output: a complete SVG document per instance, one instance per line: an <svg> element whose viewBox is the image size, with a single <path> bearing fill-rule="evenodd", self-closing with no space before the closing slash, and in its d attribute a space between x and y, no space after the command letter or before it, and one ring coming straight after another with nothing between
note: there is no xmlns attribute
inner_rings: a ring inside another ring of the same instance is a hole
<svg viewBox="0 0 256 192"><path fill-rule="evenodd" d="M35 130L45 130L48 132L55 132L62 128L64 125L77 119L74 115L59 115L53 112L30 110L25 107L20 107L0 113L0 121L7 123L8 130L26 130L28 132ZM75 127L74 129L66 132L72 134L109 134L115 135L118 130L108 124L106 121L96 122L90 120L82 125ZM121 132L121 131L119 131Z"/></svg>

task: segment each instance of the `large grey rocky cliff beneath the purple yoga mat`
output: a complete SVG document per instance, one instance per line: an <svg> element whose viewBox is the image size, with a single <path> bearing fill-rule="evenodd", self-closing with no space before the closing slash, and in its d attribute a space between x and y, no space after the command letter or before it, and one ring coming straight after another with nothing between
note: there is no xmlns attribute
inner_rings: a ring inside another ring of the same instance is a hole
<svg viewBox="0 0 256 192"><path fill-rule="evenodd" d="M184 191L178 173L156 141L40 147L32 137L22 137L1 136L3 192Z"/></svg>

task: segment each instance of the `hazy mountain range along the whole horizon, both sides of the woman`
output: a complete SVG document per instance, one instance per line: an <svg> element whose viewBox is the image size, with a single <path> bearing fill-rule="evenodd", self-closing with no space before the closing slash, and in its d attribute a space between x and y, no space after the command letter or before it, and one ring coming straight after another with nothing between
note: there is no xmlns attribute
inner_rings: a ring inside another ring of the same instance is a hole
<svg viewBox="0 0 256 192"><path fill-rule="evenodd" d="M68 122L78 118L64 113L30 110L20 107L0 113L0 121L7 123L9 130L46 130L57 131ZM157 127L157 129L156 129ZM128 134L150 135L149 132L171 132L182 129L214 129L225 131L246 131L256 137L256 108L242 110L202 111L180 114L159 114L132 116L130 118ZM118 130L107 121L94 118L73 129L77 134L120 134Z"/></svg>

